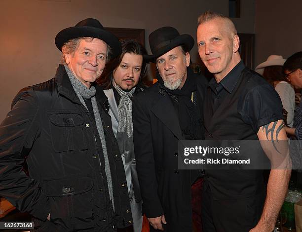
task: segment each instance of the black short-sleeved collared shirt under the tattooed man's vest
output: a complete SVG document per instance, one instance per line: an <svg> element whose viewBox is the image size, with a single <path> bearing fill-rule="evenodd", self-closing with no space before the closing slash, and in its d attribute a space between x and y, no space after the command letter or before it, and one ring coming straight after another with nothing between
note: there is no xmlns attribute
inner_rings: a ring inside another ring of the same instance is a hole
<svg viewBox="0 0 302 232"><path fill-rule="evenodd" d="M223 103L226 96L232 94L244 68L246 67L241 60L219 83L215 78L210 80L213 113ZM280 110L282 103L277 92L264 79L255 78L249 85L254 87L252 91L241 96L237 112L242 120L251 125L257 133L261 126L283 118L282 110Z"/></svg>

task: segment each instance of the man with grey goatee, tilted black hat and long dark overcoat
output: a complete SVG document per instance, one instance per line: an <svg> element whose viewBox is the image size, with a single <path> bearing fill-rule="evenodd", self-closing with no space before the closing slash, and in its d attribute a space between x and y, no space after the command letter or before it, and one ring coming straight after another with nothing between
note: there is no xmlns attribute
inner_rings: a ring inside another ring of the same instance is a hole
<svg viewBox="0 0 302 232"><path fill-rule="evenodd" d="M149 36L158 82L133 98L133 141L143 212L151 231L191 232L191 184L197 170L178 170L178 141L202 139L206 79L189 68L194 39L163 27Z"/></svg>

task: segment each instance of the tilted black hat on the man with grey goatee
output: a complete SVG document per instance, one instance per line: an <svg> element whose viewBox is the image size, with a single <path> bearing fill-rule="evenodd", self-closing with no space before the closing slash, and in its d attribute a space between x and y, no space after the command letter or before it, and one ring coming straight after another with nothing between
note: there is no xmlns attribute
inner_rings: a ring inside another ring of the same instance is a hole
<svg viewBox="0 0 302 232"><path fill-rule="evenodd" d="M144 57L154 63L156 58L180 45L184 45L186 52L189 52L194 46L194 39L189 34L180 34L175 28L163 27L149 35L149 44L152 55Z"/></svg>

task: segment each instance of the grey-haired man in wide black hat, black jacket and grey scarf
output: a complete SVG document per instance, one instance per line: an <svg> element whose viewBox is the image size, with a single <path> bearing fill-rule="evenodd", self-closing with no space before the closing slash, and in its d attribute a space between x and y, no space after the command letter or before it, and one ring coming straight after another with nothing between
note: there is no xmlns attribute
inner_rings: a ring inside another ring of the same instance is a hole
<svg viewBox="0 0 302 232"><path fill-rule="evenodd" d="M55 77L22 89L0 125L0 195L33 216L35 231L127 227L124 167L108 99L94 83L120 43L88 18L59 32L55 44L63 63Z"/></svg>

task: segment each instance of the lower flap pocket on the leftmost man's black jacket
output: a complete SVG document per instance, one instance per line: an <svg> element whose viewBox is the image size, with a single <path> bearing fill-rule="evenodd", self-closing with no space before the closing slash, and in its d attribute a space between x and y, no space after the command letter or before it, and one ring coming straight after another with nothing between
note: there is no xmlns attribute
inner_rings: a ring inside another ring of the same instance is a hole
<svg viewBox="0 0 302 232"><path fill-rule="evenodd" d="M92 227L92 189L91 176L44 181L43 190L50 204L50 220L68 227Z"/></svg>

